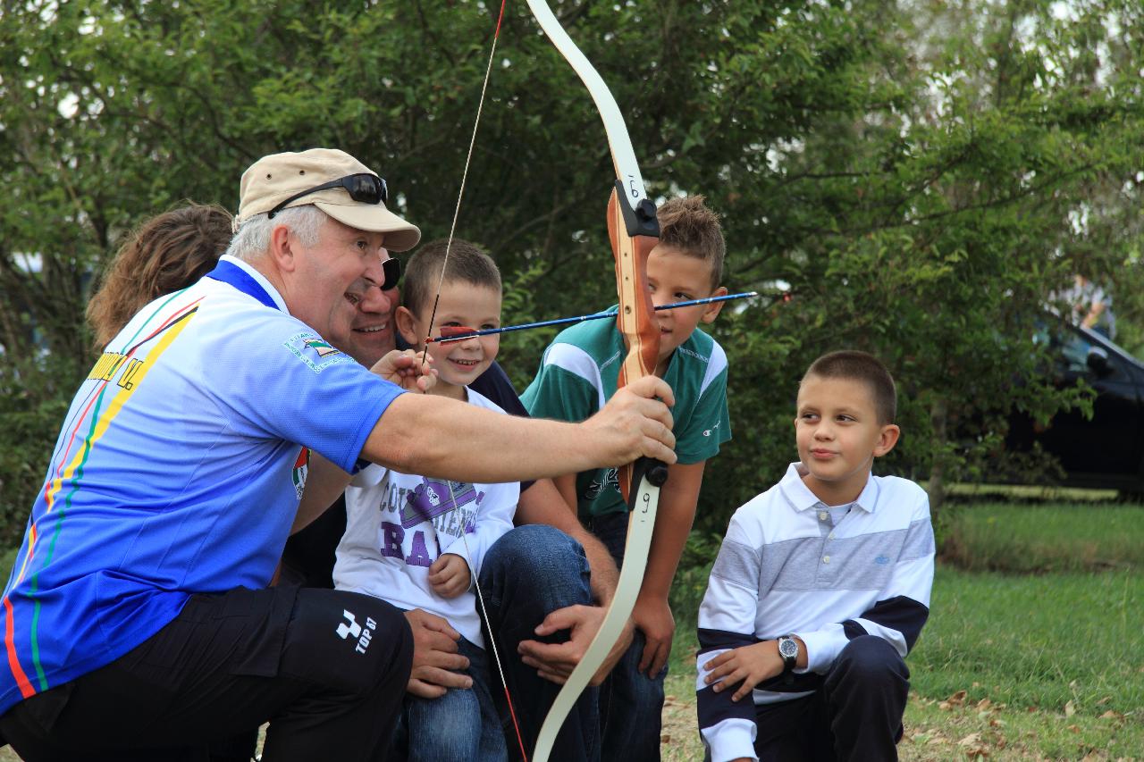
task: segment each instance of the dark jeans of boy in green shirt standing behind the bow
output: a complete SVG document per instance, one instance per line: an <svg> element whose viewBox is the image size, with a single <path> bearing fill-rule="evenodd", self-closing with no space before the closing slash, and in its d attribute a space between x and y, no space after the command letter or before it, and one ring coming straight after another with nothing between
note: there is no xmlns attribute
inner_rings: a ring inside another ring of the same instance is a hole
<svg viewBox="0 0 1144 762"><path fill-rule="evenodd" d="M615 558L615 565L621 566L628 515L598 516L590 527ZM604 762L659 759L667 665L654 677L641 673L639 659L645 643L644 634L637 629L631 645L599 686L601 759Z"/></svg>

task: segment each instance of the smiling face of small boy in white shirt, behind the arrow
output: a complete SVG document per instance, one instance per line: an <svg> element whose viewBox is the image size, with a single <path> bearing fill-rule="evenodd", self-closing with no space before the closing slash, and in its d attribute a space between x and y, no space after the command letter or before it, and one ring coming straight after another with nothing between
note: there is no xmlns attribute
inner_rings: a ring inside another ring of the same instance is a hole
<svg viewBox="0 0 1144 762"><path fill-rule="evenodd" d="M432 313L432 301L416 315L405 307L397 308L397 327L402 336L420 352ZM439 336L442 327L469 327L478 331L500 327L501 293L498 288L477 286L463 280L446 281L440 289L432 335ZM464 387L488 370L496 359L500 335L474 336L462 341L429 346L429 356L438 372L432 394L464 399Z"/></svg>

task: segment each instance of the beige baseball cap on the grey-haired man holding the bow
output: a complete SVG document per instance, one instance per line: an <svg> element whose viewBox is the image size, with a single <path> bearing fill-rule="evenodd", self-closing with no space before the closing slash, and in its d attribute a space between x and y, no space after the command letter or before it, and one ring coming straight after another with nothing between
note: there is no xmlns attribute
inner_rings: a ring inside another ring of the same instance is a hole
<svg viewBox="0 0 1144 762"><path fill-rule="evenodd" d="M336 149L264 156L243 173L235 229L255 215L267 214L292 196L358 174L376 176L378 173ZM386 233L386 248L391 252L408 251L421 240L421 231L387 209L383 201L355 201L349 190L341 185L305 193L284 208L304 204L313 204L350 228Z"/></svg>

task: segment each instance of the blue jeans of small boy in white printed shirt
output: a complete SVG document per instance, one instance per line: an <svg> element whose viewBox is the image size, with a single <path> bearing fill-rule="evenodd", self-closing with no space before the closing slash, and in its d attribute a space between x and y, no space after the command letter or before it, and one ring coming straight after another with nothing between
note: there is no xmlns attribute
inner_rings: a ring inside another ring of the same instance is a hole
<svg viewBox="0 0 1144 762"><path fill-rule="evenodd" d="M394 737L397 759L410 762L503 762L507 759L505 735L493 701L490 658L484 649L463 637L458 646L469 659L466 674L472 677L472 688L450 688L435 699L406 693Z"/></svg>

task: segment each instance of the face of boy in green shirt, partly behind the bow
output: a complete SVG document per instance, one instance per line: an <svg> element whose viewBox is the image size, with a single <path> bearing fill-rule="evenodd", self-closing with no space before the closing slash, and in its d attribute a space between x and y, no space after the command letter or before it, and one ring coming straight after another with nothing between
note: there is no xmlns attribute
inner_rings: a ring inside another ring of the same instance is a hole
<svg viewBox="0 0 1144 762"><path fill-rule="evenodd" d="M726 294L726 288L712 286L709 262L667 244L657 245L648 255L648 286L656 307ZM657 375L667 370L672 352L691 336L700 323L713 323L722 307L722 302L716 302L656 312L659 324Z"/></svg>

